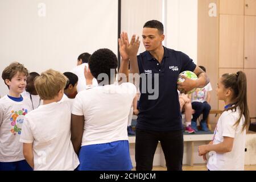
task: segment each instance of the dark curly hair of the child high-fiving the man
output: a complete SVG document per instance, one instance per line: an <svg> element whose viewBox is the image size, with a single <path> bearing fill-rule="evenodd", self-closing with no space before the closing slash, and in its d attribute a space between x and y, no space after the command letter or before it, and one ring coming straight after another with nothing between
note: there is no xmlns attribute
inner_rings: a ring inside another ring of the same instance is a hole
<svg viewBox="0 0 256 182"><path fill-rule="evenodd" d="M111 69L117 69L117 56L110 49L98 49L89 59L89 68L92 76L98 78L101 73L106 73L109 77L109 82L112 80L110 73ZM97 79L98 80L98 79ZM102 80L98 80L100 82Z"/></svg>

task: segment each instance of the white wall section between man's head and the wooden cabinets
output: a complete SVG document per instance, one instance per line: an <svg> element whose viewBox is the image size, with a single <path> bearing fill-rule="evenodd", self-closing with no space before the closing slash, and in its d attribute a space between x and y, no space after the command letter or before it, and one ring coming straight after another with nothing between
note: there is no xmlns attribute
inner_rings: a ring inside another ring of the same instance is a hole
<svg viewBox="0 0 256 182"><path fill-rule="evenodd" d="M197 63L197 0L166 0L166 46Z"/></svg>

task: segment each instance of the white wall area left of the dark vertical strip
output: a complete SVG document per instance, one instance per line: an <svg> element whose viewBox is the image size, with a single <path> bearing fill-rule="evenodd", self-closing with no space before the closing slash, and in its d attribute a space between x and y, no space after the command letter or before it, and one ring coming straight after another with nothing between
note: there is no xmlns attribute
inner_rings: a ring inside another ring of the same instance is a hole
<svg viewBox="0 0 256 182"><path fill-rule="evenodd" d="M0 0L0 24L1 73L13 61L31 72L65 72L82 52L117 54L118 0ZM2 80L0 95L6 93Z"/></svg>

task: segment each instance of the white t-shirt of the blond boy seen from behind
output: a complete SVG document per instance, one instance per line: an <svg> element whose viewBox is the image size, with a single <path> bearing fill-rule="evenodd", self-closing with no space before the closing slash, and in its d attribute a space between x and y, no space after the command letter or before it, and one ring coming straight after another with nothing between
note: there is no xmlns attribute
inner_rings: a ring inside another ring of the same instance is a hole
<svg viewBox="0 0 256 182"><path fill-rule="evenodd" d="M71 143L71 103L39 106L24 119L20 142L33 143L34 170L74 170L79 159Z"/></svg>

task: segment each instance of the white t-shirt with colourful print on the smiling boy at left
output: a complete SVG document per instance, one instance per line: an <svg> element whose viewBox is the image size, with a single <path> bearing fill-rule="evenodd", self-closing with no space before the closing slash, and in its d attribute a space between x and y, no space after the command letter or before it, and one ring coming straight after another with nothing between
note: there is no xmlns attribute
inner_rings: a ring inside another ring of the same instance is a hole
<svg viewBox="0 0 256 182"><path fill-rule="evenodd" d="M0 99L0 162L24 160L23 145L19 142L25 115L31 111L30 100L15 102L4 96Z"/></svg>

